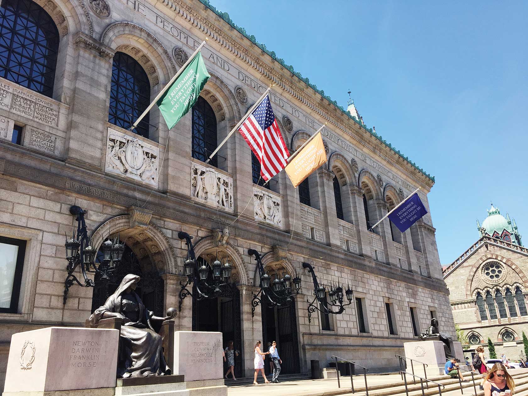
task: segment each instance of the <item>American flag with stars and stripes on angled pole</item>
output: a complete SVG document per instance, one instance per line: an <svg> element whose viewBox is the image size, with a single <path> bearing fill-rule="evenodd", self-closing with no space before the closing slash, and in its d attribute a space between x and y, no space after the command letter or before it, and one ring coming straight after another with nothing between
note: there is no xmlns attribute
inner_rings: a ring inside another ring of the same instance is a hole
<svg viewBox="0 0 528 396"><path fill-rule="evenodd" d="M275 114L266 96L238 129L260 162L260 175L267 182L288 164L290 153L282 139Z"/></svg>

